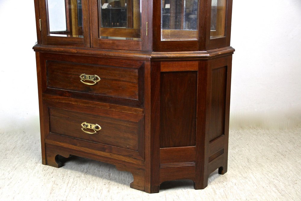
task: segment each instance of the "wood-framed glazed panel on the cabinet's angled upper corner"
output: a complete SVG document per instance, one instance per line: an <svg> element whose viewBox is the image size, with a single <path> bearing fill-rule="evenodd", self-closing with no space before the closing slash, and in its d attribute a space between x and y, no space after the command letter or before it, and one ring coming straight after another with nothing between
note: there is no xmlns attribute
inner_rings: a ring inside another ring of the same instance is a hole
<svg viewBox="0 0 301 201"><path fill-rule="evenodd" d="M204 19L203 0L154 1L153 26L155 51L197 51Z"/></svg>

